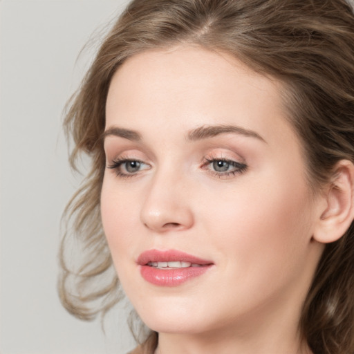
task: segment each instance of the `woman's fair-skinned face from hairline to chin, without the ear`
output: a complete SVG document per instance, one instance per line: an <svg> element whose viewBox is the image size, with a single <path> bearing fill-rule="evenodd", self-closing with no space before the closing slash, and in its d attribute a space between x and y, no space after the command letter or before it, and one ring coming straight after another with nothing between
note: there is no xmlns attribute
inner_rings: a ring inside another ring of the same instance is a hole
<svg viewBox="0 0 354 354"><path fill-rule="evenodd" d="M147 51L115 73L102 221L122 286L153 330L298 321L322 247L281 89L196 47Z"/></svg>

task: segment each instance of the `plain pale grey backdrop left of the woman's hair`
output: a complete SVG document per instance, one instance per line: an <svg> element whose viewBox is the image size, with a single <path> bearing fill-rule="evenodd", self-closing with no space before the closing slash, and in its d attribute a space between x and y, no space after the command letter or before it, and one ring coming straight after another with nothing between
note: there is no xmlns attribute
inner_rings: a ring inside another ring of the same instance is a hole
<svg viewBox="0 0 354 354"><path fill-rule="evenodd" d="M77 56L127 0L1 0L1 354L127 353L126 310L81 322L57 296L59 221L80 183L62 110L92 59Z"/></svg>

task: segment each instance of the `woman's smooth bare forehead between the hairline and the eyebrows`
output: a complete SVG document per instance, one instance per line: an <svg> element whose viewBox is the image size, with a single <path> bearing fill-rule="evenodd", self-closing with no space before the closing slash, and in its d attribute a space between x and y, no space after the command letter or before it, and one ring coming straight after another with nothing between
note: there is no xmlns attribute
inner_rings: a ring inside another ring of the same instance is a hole
<svg viewBox="0 0 354 354"><path fill-rule="evenodd" d="M292 133L281 83L252 71L226 53L180 46L135 55L113 75L106 127L171 130L237 124L260 135ZM266 138L265 138L266 140Z"/></svg>

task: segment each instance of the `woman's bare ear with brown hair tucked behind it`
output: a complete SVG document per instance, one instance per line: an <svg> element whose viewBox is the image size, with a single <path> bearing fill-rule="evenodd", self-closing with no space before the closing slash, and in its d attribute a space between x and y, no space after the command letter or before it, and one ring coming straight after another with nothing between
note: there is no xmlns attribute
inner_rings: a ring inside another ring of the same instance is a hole
<svg viewBox="0 0 354 354"><path fill-rule="evenodd" d="M333 179L322 198L324 203L321 203L313 239L330 243L340 239L354 219L353 162L341 160L337 163Z"/></svg>

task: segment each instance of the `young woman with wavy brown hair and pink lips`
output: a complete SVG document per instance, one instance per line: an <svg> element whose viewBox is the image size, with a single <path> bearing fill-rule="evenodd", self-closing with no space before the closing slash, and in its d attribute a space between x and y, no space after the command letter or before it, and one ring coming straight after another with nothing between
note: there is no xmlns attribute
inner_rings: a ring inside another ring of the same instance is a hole
<svg viewBox="0 0 354 354"><path fill-rule="evenodd" d="M133 1L66 116L64 306L122 286L134 353L354 353L353 82L344 0Z"/></svg>

